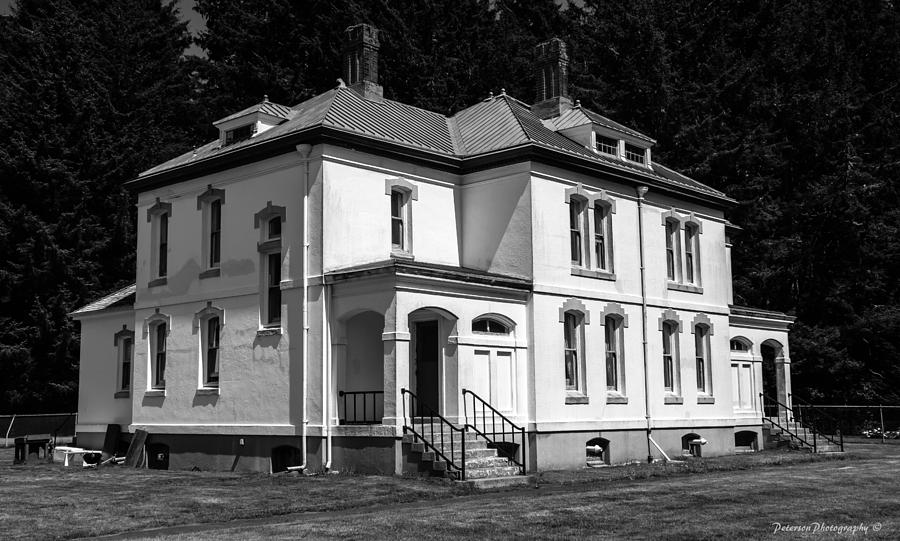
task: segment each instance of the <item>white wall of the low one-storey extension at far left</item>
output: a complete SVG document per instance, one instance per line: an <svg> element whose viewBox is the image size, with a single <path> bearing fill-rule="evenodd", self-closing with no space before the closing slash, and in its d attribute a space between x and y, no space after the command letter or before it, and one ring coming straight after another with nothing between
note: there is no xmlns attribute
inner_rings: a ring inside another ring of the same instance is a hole
<svg viewBox="0 0 900 541"><path fill-rule="evenodd" d="M78 369L78 426L80 445L103 445L106 425L127 429L131 400L115 398L119 390L119 350L115 334L123 326L134 330L130 309L109 310L81 320L81 352ZM134 379L132 378L132 388Z"/></svg>

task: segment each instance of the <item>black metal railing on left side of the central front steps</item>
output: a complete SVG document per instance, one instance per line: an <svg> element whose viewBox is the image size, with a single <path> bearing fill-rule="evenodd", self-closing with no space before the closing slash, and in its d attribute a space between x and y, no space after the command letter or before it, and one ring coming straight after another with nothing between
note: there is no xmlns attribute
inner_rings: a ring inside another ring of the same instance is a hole
<svg viewBox="0 0 900 541"><path fill-rule="evenodd" d="M447 463L447 473L460 481L466 480L466 430L454 426L431 406L419 400L408 389L400 389L403 400L403 433L412 433L414 441L421 440L435 457ZM409 401L409 409L406 402ZM408 417L407 411L416 417ZM408 424L407 424L408 422ZM417 428L418 426L418 428ZM437 428L437 430L435 430ZM426 430L427 429L427 430ZM447 456L449 448L450 456ZM455 460L456 456L459 460Z"/></svg>

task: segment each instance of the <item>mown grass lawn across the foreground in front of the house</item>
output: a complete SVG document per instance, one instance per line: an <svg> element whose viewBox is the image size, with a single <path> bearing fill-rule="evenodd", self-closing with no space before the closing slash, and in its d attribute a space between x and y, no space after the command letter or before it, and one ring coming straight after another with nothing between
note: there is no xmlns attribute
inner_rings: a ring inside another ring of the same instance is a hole
<svg viewBox="0 0 900 541"><path fill-rule="evenodd" d="M477 494L393 477L12 466L11 451L0 450L0 524L4 536L41 539L761 539L776 522L818 522L900 538L900 446L849 450L545 472L536 489ZM162 529L140 531L148 528Z"/></svg>

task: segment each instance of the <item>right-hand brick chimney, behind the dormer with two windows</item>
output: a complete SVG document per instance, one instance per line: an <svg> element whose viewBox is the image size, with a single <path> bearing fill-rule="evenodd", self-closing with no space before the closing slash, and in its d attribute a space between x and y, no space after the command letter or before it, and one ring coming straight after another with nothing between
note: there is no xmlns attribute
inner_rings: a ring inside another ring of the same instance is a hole
<svg viewBox="0 0 900 541"><path fill-rule="evenodd" d="M535 103L532 112L540 118L559 116L572 108L569 97L569 55L566 43L553 38L534 48Z"/></svg>

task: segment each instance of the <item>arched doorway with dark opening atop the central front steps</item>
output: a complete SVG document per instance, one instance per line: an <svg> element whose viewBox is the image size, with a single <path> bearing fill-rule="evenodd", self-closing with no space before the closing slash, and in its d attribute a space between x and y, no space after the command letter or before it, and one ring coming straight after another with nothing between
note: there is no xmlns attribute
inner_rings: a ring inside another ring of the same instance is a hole
<svg viewBox="0 0 900 541"><path fill-rule="evenodd" d="M445 387L453 382L445 381L447 338L455 334L457 317L442 308L420 308L409 314L410 362L409 383L418 396L420 409L416 416L427 415L428 410L443 413ZM424 406L422 408L421 406Z"/></svg>

